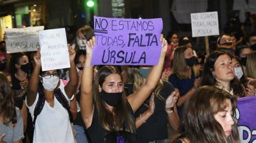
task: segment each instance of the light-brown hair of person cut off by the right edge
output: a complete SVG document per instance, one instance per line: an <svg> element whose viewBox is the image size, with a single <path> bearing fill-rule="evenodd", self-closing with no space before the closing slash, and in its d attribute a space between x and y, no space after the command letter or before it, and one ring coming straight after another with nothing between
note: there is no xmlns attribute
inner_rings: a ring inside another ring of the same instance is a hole
<svg viewBox="0 0 256 143"><path fill-rule="evenodd" d="M246 74L247 77L256 78L256 52L253 51L247 56L246 61Z"/></svg>

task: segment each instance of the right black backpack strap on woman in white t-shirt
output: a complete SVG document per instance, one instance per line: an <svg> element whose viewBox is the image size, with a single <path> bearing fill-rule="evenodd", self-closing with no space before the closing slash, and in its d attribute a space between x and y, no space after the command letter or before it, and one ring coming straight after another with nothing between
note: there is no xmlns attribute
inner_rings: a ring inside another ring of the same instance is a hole
<svg viewBox="0 0 256 143"><path fill-rule="evenodd" d="M73 122L73 116L72 116L72 113L70 111L69 102L66 99L66 97L64 96L63 92L58 88L58 89L55 90L54 95L57 98L58 102L60 104L62 104L62 106L66 109L66 111L68 111L69 119L70 119L70 122L72 123Z"/></svg>

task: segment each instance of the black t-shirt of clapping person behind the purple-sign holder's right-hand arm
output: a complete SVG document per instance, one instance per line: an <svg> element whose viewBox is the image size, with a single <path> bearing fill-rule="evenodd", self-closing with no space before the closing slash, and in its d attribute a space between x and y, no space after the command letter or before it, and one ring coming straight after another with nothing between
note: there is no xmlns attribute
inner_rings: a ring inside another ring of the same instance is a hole
<svg viewBox="0 0 256 143"><path fill-rule="evenodd" d="M171 92L174 91L174 88L170 82L163 81L163 83L164 87L160 90L160 95L166 99L171 94ZM129 94L132 94L132 88L132 84L125 85L126 92ZM147 105L149 105L149 99L150 97L145 102ZM165 111L165 100L154 97L154 104L155 109L153 115L150 116L146 123L140 126L136 131L138 142L149 142L168 138L168 117ZM148 107L145 105L140 106L138 111L135 113L135 117L139 117L139 115L144 113L147 109Z"/></svg>

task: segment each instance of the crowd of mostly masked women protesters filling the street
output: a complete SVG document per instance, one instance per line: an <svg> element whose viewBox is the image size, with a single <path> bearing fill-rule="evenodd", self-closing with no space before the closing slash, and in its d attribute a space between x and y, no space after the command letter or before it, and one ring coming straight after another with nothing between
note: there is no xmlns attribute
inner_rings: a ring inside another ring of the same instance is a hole
<svg viewBox="0 0 256 143"><path fill-rule="evenodd" d="M1 41L0 142L239 142L233 115L255 95L256 32L224 32L205 60L169 32L156 66L93 66L85 25L68 40L70 68L48 71L40 49L8 54Z"/></svg>

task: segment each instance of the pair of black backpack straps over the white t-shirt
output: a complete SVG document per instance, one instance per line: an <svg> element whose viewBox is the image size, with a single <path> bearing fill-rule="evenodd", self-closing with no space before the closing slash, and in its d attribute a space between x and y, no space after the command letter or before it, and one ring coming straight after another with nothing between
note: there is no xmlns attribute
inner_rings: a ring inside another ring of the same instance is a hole
<svg viewBox="0 0 256 143"><path fill-rule="evenodd" d="M72 123L73 117L72 117L72 114L71 114L71 111L70 111L70 106L69 106L68 100L66 99L66 97L63 95L62 91L59 88L56 89L53 94L55 95L58 102L60 104L62 104L62 106L68 111L69 119L70 119L70 122ZM45 95L44 95L44 92L41 91L41 92L39 92L38 101L36 103L36 107L35 107L35 110L34 110L34 119L33 119L33 126L34 127L35 127L37 116L41 113L41 111L44 108L44 103L45 103Z"/></svg>

